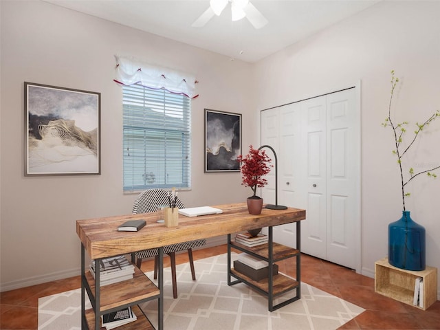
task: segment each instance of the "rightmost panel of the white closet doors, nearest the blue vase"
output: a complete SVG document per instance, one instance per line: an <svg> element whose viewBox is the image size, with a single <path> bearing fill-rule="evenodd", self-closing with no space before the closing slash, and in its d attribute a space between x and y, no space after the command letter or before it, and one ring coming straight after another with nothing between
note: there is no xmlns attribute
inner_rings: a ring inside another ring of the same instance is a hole
<svg viewBox="0 0 440 330"><path fill-rule="evenodd" d="M327 260L356 268L358 111L355 89L327 96Z"/></svg>

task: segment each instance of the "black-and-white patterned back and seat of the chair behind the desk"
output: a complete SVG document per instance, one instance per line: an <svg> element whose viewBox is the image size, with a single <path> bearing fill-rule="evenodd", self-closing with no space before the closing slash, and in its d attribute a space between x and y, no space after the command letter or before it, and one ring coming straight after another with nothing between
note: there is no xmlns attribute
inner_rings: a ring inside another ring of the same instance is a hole
<svg viewBox="0 0 440 330"><path fill-rule="evenodd" d="M168 205L168 192L164 189L148 189L144 190L136 199L133 204L132 214L137 213L149 213L156 212L157 206ZM185 208L184 203L177 197L177 208ZM164 253L179 252L192 248L198 248L206 245L205 239L196 239L195 241L188 241L184 243L172 244L164 246ZM143 250L135 253L135 256L139 259L149 258L151 256L157 256L159 254L158 249Z"/></svg>

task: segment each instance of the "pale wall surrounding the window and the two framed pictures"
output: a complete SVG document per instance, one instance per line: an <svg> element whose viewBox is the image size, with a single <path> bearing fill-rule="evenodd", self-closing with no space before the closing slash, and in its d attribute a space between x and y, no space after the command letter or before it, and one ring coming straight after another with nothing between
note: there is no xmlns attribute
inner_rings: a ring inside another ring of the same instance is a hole
<svg viewBox="0 0 440 330"><path fill-rule="evenodd" d="M252 65L41 1L1 1L1 290L79 274L75 221L127 214L122 192L122 93L115 54L195 74L192 190L187 206L244 201L239 173L203 173L203 109L243 113L255 143ZM101 93L101 175L24 177L23 82ZM253 139L253 140L252 140Z"/></svg>

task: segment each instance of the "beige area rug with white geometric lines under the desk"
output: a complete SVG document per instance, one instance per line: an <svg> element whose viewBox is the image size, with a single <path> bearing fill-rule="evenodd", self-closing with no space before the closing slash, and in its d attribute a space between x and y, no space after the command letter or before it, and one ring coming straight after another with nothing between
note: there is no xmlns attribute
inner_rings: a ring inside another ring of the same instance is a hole
<svg viewBox="0 0 440 330"><path fill-rule="evenodd" d="M197 281L192 281L188 263L177 265L177 299L170 269L164 270L164 329L331 330L364 311L302 283L300 300L271 313L265 296L243 283L228 286L226 264L226 254L195 261ZM153 278L152 272L146 274ZM157 328L157 300L140 307ZM80 330L80 289L39 300L39 330L61 329Z"/></svg>

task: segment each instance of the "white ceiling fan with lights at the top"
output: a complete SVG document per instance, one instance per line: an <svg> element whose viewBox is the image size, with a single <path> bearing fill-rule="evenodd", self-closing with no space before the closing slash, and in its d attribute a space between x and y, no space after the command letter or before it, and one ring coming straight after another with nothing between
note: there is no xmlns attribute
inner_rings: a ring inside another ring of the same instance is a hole
<svg viewBox="0 0 440 330"><path fill-rule="evenodd" d="M209 8L191 26L201 28L214 15L220 16L229 2L231 3L232 21L239 21L246 17L256 29L263 28L267 24L267 19L249 0L210 0Z"/></svg>

